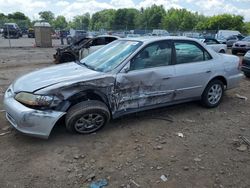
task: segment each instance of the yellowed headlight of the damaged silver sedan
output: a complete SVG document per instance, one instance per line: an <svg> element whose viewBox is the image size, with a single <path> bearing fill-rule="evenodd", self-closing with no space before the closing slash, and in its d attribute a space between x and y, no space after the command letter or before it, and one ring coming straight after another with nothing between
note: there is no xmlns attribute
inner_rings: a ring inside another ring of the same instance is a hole
<svg viewBox="0 0 250 188"><path fill-rule="evenodd" d="M54 100L53 96L47 95L34 95L32 93L20 92L16 94L15 99L20 103L29 105L29 106L39 106L47 107L50 106Z"/></svg>

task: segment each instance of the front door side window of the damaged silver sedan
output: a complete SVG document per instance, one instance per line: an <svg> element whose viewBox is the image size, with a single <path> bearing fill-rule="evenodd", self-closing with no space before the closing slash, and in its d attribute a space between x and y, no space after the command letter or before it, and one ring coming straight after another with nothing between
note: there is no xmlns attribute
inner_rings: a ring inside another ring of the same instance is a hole
<svg viewBox="0 0 250 188"><path fill-rule="evenodd" d="M167 66L171 64L172 47L168 41L149 44L130 63L130 70Z"/></svg>

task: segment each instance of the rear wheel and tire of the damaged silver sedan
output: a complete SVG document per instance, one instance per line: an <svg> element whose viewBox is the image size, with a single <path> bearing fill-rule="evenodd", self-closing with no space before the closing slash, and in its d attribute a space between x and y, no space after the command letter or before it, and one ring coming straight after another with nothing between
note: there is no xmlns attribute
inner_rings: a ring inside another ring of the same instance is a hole
<svg viewBox="0 0 250 188"><path fill-rule="evenodd" d="M215 96L211 95L211 93L213 93L212 90L217 87L219 87L220 89L218 88L218 91L215 92L214 94ZM201 96L201 103L203 106L207 108L217 107L221 103L223 95L224 95L223 82L220 80L212 80L208 83L206 89L203 91L203 94Z"/></svg>

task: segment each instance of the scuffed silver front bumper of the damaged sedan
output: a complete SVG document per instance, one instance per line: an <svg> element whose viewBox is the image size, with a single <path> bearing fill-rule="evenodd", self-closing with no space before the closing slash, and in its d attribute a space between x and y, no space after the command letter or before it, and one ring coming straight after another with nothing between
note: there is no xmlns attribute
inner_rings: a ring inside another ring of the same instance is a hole
<svg viewBox="0 0 250 188"><path fill-rule="evenodd" d="M14 99L12 88L4 95L6 118L18 131L39 138L48 138L55 123L65 114L53 110L35 110Z"/></svg>

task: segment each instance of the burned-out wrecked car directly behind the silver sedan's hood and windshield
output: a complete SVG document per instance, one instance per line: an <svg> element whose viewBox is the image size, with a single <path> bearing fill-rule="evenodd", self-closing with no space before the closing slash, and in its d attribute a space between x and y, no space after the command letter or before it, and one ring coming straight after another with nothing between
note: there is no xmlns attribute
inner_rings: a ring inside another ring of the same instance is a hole
<svg viewBox="0 0 250 188"><path fill-rule="evenodd" d="M100 35L97 37L86 37L69 46L58 48L54 54L55 63L65 63L80 60L104 45L117 40L119 37L113 35Z"/></svg>

